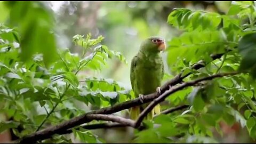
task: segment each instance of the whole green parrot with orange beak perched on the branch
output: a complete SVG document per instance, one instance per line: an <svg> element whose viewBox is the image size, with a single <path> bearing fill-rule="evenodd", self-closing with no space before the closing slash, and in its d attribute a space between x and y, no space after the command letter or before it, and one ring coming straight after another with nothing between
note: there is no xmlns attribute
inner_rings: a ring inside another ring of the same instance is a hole
<svg viewBox="0 0 256 144"><path fill-rule="evenodd" d="M165 40L159 36L151 36L143 41L140 50L131 61L130 81L135 97L143 102L142 95L158 92L161 93L161 82L164 76L163 59L160 52L165 50ZM130 109L130 117L135 120L149 104L144 104ZM155 114L161 113L158 104L146 116L146 119L153 119Z"/></svg>

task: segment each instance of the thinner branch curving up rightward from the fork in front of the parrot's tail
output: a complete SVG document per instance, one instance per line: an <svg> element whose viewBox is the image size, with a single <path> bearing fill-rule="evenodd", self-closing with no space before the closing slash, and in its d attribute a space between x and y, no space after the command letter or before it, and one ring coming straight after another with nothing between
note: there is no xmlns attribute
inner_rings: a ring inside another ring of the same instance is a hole
<svg viewBox="0 0 256 144"><path fill-rule="evenodd" d="M179 90L182 90L184 89L185 87L188 87L188 86L192 86L192 85L195 85L199 82L202 82L202 81L207 81L207 80L211 80L213 78L216 78L216 77L223 77L223 76L228 76L228 75L236 75L238 74L239 72L235 71L235 72L232 72L232 73L219 73L219 74L215 74L215 75L211 75L211 76L208 76L208 77L203 77L203 78L199 78L199 79L196 79L195 81L190 81L190 82L185 82L185 83L182 83L181 85L179 86L175 86L175 87L171 87L170 90L167 90L164 94L160 95L158 98L156 98L155 100L153 100L143 111L142 113L139 115L139 118L137 119L136 123L135 123L135 128L136 127L139 127L141 122L143 121L143 119L146 117L146 115L160 102L164 101L165 98L167 98L170 94L174 93L174 92L177 92Z"/></svg>

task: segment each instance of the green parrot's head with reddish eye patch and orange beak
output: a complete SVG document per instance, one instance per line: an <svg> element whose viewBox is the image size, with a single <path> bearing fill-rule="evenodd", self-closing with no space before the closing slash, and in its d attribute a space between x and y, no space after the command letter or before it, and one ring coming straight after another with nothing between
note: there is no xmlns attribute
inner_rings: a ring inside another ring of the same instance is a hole
<svg viewBox="0 0 256 144"><path fill-rule="evenodd" d="M165 39L159 36L151 36L141 44L141 49L148 52L161 52L165 48Z"/></svg>

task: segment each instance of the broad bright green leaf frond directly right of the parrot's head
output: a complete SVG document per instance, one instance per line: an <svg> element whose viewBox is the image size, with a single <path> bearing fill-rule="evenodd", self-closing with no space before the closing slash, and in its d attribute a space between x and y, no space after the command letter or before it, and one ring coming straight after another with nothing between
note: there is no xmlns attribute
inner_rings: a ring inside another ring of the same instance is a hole
<svg viewBox="0 0 256 144"><path fill-rule="evenodd" d="M225 52L227 45L225 37L217 30L186 32L169 42L167 64L176 71L182 67L182 62L193 65L199 60L209 59L211 53Z"/></svg>

